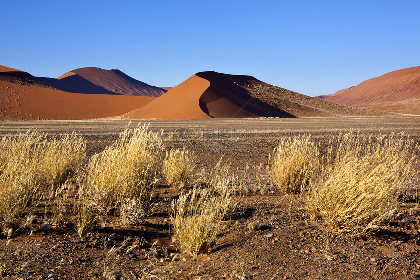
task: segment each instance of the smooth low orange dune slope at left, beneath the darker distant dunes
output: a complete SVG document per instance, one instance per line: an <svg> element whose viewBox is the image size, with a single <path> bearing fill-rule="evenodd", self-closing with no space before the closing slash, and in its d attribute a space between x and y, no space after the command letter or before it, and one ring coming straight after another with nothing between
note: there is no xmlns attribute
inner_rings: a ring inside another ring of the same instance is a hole
<svg viewBox="0 0 420 280"><path fill-rule="evenodd" d="M122 115L155 99L69 93L0 81L0 119L68 120Z"/></svg>

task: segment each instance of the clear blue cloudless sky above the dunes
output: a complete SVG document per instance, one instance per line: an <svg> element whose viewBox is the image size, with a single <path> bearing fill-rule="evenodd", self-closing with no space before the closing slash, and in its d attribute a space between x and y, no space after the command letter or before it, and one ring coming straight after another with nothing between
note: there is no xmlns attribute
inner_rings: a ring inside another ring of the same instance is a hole
<svg viewBox="0 0 420 280"><path fill-rule="evenodd" d="M258 2L3 1L0 65L120 69L157 86L211 70L310 96L420 66L419 0Z"/></svg>

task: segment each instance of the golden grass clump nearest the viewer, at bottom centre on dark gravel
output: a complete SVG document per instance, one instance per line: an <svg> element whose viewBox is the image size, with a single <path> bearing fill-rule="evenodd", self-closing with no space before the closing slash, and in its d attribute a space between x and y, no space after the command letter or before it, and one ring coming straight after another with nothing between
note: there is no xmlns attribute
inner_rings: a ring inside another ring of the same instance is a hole
<svg viewBox="0 0 420 280"><path fill-rule="evenodd" d="M227 188L222 193L194 188L180 194L172 204L172 239L192 255L207 252L223 219L230 215L232 203L234 196Z"/></svg>

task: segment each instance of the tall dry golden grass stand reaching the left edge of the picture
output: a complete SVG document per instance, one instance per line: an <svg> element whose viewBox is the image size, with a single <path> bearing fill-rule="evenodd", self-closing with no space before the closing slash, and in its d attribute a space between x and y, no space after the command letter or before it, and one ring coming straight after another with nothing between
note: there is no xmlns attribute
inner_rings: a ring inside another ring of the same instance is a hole
<svg viewBox="0 0 420 280"><path fill-rule="evenodd" d="M40 190L52 191L85 161L85 141L27 131L0 140L0 224L14 225Z"/></svg>

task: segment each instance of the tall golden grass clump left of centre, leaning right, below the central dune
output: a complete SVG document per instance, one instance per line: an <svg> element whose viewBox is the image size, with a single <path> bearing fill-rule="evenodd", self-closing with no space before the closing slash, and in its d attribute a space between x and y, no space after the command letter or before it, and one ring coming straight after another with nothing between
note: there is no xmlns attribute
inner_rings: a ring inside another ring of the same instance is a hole
<svg viewBox="0 0 420 280"><path fill-rule="evenodd" d="M143 125L126 128L113 145L93 155L83 180L97 208L110 213L135 200L147 209L162 150L160 135Z"/></svg>

